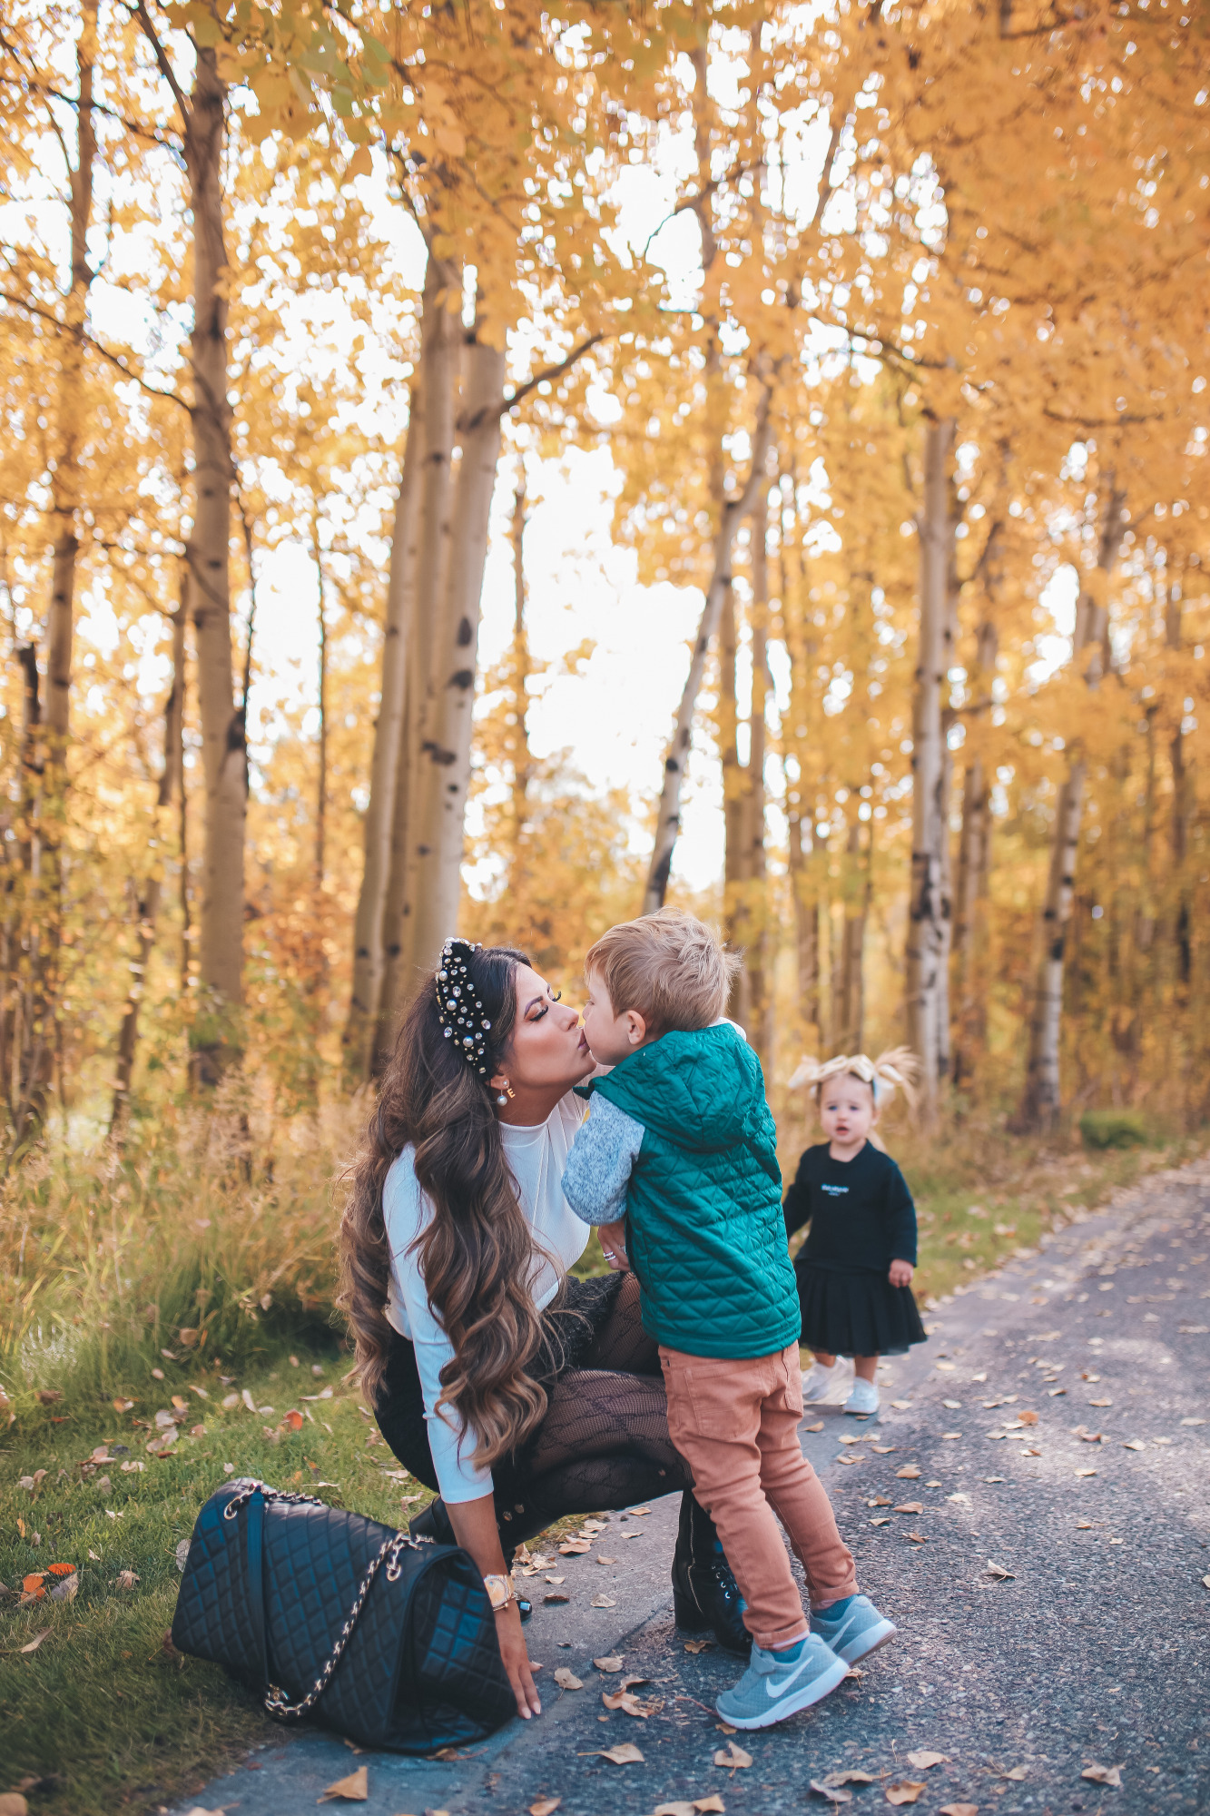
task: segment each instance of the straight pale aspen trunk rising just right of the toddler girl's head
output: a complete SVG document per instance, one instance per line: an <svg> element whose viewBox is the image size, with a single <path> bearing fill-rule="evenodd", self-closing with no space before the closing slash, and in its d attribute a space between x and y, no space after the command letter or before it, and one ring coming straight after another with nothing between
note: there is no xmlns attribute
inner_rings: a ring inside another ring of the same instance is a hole
<svg viewBox="0 0 1210 1816"><path fill-rule="evenodd" d="M925 441L925 505L919 528L919 659L912 701L912 883L907 939L907 1035L921 1059L921 1110L937 1111L943 972L948 955L945 739L941 694L950 592L948 463L954 423L930 421Z"/></svg>

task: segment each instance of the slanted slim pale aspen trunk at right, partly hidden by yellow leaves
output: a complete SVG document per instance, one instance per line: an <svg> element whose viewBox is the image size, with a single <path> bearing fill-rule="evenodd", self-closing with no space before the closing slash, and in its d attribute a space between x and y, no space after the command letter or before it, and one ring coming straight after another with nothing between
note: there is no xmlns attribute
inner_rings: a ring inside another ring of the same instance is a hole
<svg viewBox="0 0 1210 1816"><path fill-rule="evenodd" d="M1126 528L1125 492L1110 474L1101 523L1097 568L1101 596L1117 561ZM1090 592L1081 592L1076 603L1076 630L1072 661L1085 666L1085 681L1092 692L1101 683L1103 650L1108 627L1108 607L1099 605ZM1019 1130L1050 1130L1059 1117L1059 1048L1063 1035L1063 959L1066 930L1072 919L1076 888L1076 857L1079 852L1079 821L1085 803L1086 761L1076 745L1068 759L1066 777L1059 788L1046 875L1046 899L1041 912L1041 959L1034 981L1030 1013L1028 1066L1025 1093L1016 1117Z"/></svg>

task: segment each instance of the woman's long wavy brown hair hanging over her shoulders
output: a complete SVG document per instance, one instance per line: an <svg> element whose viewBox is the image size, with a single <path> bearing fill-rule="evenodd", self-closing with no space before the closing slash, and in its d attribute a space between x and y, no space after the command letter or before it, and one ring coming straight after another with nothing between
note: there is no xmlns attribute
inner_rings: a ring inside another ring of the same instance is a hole
<svg viewBox="0 0 1210 1816"><path fill-rule="evenodd" d="M507 1070L521 964L529 964L527 955L511 946L467 953L474 993L492 1024L487 1077ZM474 1460L491 1467L523 1444L547 1411L543 1387L527 1375L541 1338L529 1291L534 1239L505 1160L491 1090L445 1039L434 973L400 1026L340 1224L338 1302L352 1327L354 1371L371 1406L392 1342L382 1191L409 1142L416 1179L432 1202L416 1253L429 1302L454 1347L441 1369L438 1404L452 1407L463 1429L476 1435Z"/></svg>

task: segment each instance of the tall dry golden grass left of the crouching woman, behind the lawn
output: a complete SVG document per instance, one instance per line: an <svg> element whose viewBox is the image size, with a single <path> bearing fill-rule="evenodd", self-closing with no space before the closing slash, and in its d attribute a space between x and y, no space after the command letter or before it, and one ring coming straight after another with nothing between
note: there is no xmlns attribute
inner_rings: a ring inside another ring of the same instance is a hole
<svg viewBox="0 0 1210 1816"><path fill-rule="evenodd" d="M278 1120L233 1079L118 1153L47 1146L0 1199L0 1386L111 1398L193 1351L331 1342L336 1202L362 1106Z"/></svg>

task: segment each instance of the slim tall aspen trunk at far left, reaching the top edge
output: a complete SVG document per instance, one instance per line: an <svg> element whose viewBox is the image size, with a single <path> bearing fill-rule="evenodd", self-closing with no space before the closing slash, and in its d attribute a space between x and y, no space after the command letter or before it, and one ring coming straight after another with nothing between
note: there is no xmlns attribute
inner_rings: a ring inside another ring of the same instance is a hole
<svg viewBox="0 0 1210 1816"><path fill-rule="evenodd" d="M80 503L80 443L85 432L84 396L84 323L93 271L89 267L89 225L93 220L93 163L96 134L93 127L93 58L96 56L96 0L85 0L76 44L76 167L71 183L71 281L64 309L65 332L60 338L56 398L55 472L51 478L51 601L47 610L45 703L42 723L42 783L38 790L38 884L31 890L31 941L36 957L31 966L31 1041L29 1071L18 1086L18 1146L31 1140L45 1119L45 1104L55 1073L55 1026L62 995L60 953L64 915L62 844L67 817L67 746L71 737L71 654L76 619L76 508ZM33 881L33 879L31 879ZM36 924L35 924L36 923Z"/></svg>

